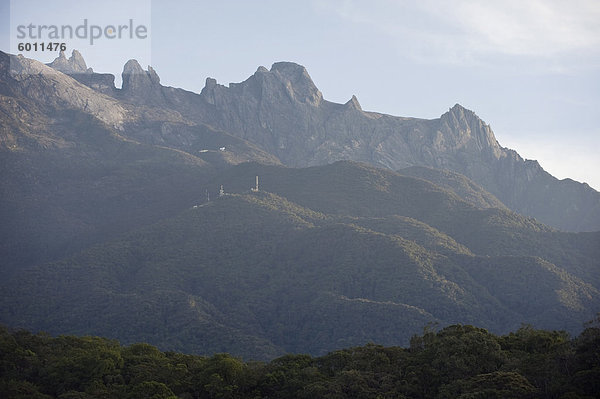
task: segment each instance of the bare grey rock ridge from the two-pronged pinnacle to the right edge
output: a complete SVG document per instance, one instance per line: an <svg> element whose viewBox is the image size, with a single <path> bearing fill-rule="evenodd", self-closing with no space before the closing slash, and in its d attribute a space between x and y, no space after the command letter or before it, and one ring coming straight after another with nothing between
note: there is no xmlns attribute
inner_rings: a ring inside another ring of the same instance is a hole
<svg viewBox="0 0 600 399"><path fill-rule="evenodd" d="M200 94L162 86L151 67L143 70L134 60L125 65L122 90L103 82L95 77L83 83L122 102L169 109L228 132L287 166L353 160L392 170L446 169L550 226L600 230L600 193L559 181L536 161L502 147L490 126L459 104L432 120L367 112L355 96L345 104L325 100L306 69L290 62L261 66L228 86L208 78Z"/></svg>

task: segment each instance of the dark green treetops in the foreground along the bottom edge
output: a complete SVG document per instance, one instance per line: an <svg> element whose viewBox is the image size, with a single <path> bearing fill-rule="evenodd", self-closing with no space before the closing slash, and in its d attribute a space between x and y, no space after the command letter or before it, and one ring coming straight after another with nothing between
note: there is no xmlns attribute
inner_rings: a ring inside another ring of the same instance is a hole
<svg viewBox="0 0 600 399"><path fill-rule="evenodd" d="M497 336L469 325L268 363L161 352L98 337L0 327L0 397L561 398L600 395L600 325L570 339L523 326Z"/></svg>

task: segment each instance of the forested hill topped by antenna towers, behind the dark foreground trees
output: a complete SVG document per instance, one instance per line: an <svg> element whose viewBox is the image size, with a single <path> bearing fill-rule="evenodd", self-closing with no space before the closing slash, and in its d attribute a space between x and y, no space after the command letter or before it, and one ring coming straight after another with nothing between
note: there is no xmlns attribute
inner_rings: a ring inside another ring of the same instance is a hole
<svg viewBox="0 0 600 399"><path fill-rule="evenodd" d="M326 214L259 192L20 270L0 301L13 327L270 360L407 345L431 322L577 334L600 294L542 258L475 255L409 216Z"/></svg>

